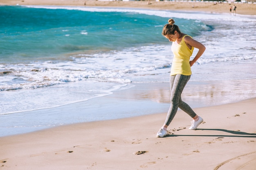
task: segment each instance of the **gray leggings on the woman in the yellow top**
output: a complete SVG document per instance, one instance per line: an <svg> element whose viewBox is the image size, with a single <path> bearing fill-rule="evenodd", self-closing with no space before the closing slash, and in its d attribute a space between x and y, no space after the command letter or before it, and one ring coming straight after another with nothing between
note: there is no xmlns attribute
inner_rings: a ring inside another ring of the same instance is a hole
<svg viewBox="0 0 256 170"><path fill-rule="evenodd" d="M171 121L173 120L178 110L178 107L180 107L181 110L189 114L191 118L196 116L195 112L191 109L191 107L181 99L181 93L189 79L190 76L184 76L182 74L170 76L171 106L168 110L164 123L167 126L170 125Z"/></svg>

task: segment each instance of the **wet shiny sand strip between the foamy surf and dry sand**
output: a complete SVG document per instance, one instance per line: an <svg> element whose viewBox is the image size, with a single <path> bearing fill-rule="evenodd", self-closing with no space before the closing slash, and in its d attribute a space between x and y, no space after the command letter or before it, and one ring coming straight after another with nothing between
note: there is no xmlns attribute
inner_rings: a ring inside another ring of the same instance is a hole
<svg viewBox="0 0 256 170"><path fill-rule="evenodd" d="M131 83L130 86L87 101L1 115L0 137L37 132L61 125L118 120L168 111L170 105L168 82ZM193 109L212 107L255 98L256 92L252 90L255 88L256 78L189 81L182 98Z"/></svg>

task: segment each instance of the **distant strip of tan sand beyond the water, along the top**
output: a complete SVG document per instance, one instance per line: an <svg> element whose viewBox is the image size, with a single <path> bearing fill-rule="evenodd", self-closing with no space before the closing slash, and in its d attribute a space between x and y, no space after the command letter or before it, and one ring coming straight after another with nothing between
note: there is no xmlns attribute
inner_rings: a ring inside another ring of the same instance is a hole
<svg viewBox="0 0 256 170"><path fill-rule="evenodd" d="M175 11L203 11L206 13L229 13L233 3L214 2L181 2L181 1L101 1L101 0L0 0L0 5L50 5L50 6L79 6L79 7L118 7ZM236 13L256 15L256 4L235 3Z"/></svg>

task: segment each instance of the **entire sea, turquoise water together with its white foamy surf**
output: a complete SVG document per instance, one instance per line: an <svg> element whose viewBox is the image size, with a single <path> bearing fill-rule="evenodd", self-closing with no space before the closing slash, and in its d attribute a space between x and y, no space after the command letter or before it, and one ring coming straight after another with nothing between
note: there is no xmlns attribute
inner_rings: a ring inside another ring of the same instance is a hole
<svg viewBox="0 0 256 170"><path fill-rule="evenodd" d="M256 16L0 6L0 129L5 131L0 136L16 134L17 127L20 133L80 122L67 115L49 123L49 115L40 112L36 123L37 115L27 111L90 101L132 83L168 82L173 54L161 33L169 18L207 47L192 68L192 82L256 78ZM255 97L255 90L251 94ZM17 120L20 115L25 121Z"/></svg>

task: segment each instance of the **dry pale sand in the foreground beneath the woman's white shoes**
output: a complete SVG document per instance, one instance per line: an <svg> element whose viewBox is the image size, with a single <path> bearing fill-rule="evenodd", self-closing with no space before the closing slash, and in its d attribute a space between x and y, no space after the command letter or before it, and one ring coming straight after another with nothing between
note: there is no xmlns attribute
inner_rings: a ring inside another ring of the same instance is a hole
<svg viewBox="0 0 256 170"><path fill-rule="evenodd" d="M3 170L155 170L171 163L175 170L252 169L256 131L247 121L256 119L255 102L252 98L195 108L204 119L198 130L188 130L191 119L179 110L164 138L156 133L165 113L1 137L0 166ZM193 163L197 166L191 167Z"/></svg>

